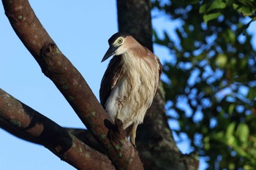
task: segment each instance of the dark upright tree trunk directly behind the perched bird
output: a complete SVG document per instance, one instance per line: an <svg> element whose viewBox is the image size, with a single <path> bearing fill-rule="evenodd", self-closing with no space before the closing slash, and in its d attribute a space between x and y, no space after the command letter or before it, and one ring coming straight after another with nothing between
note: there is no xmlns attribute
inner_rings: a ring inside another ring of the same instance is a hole
<svg viewBox="0 0 256 170"><path fill-rule="evenodd" d="M151 26L151 1L117 0L118 28L132 34L153 51ZM173 140L165 112L164 90L148 109L144 123L139 125L136 144L145 169L197 169L194 155L182 155Z"/></svg>

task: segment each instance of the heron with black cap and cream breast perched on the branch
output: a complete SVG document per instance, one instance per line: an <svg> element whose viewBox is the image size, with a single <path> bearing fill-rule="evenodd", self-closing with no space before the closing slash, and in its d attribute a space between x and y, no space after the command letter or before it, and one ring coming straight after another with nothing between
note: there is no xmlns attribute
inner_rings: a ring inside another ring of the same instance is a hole
<svg viewBox="0 0 256 170"><path fill-rule="evenodd" d="M157 55L143 47L131 35L116 33L108 39L110 45L102 62L108 64L99 90L99 98L110 119L119 119L124 130L132 127L129 134L135 145L136 129L143 123L159 86L162 65Z"/></svg>

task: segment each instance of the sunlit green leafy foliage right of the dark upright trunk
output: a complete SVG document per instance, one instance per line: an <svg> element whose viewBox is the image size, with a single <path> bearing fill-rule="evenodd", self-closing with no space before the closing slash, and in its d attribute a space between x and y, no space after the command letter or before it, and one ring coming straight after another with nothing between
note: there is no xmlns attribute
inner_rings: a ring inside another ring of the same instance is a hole
<svg viewBox="0 0 256 170"><path fill-rule="evenodd" d="M178 41L167 31L154 34L174 56L163 71L169 109L178 115L170 115L180 125L176 133L187 134L209 169L253 169L256 51L246 28L256 19L256 2L155 0L153 7L181 21Z"/></svg>

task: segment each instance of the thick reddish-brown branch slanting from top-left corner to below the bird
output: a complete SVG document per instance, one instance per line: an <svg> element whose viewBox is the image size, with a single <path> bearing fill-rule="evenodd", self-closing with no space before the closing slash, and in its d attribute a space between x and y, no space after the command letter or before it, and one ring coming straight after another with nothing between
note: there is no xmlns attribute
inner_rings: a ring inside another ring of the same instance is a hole
<svg viewBox="0 0 256 170"><path fill-rule="evenodd" d="M42 72L53 81L80 120L103 144L116 169L143 169L137 150L127 140L108 138L104 121L108 115L89 85L72 63L61 53L39 23L26 0L2 0L5 14L20 40L34 56ZM118 134L116 134L118 136Z"/></svg>

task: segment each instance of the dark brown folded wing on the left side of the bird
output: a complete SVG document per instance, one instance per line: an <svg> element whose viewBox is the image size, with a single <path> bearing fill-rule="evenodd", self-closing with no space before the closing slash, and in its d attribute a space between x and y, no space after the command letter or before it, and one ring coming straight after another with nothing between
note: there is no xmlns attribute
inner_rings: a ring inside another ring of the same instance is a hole
<svg viewBox="0 0 256 170"><path fill-rule="evenodd" d="M102 82L99 89L99 100L102 107L105 108L105 103L110 96L111 90L115 87L121 74L121 56L114 56L105 74L102 77Z"/></svg>

